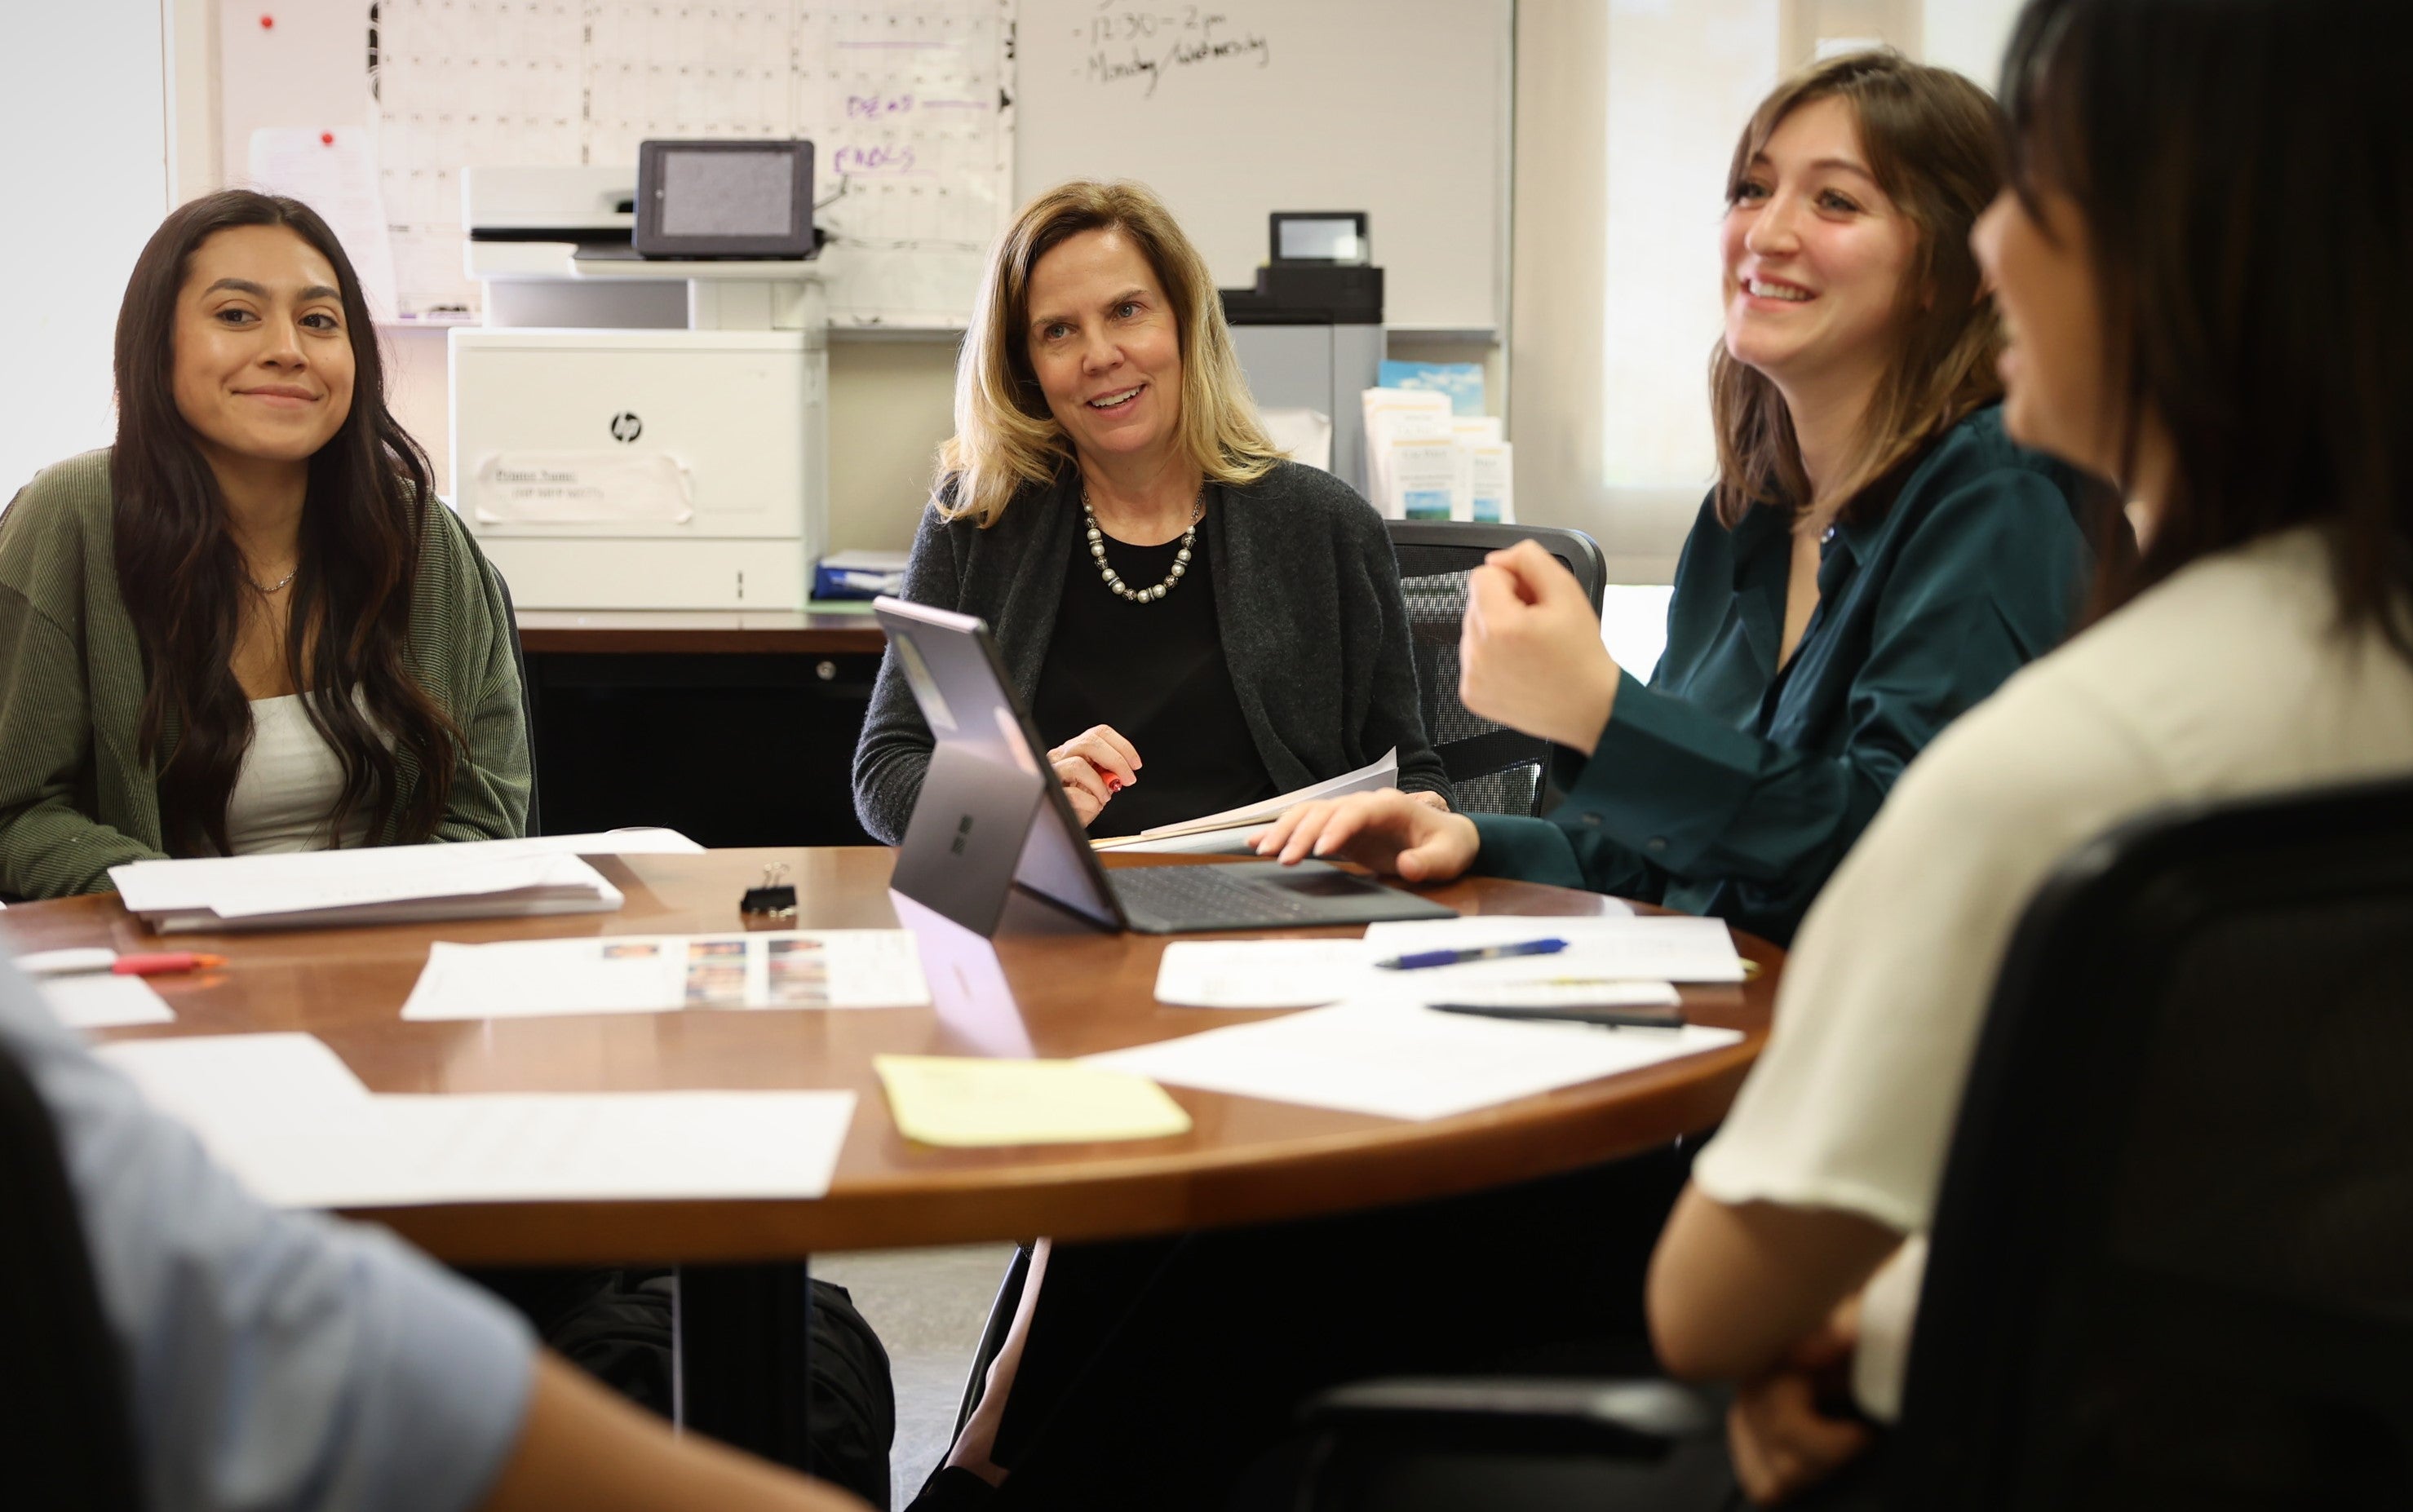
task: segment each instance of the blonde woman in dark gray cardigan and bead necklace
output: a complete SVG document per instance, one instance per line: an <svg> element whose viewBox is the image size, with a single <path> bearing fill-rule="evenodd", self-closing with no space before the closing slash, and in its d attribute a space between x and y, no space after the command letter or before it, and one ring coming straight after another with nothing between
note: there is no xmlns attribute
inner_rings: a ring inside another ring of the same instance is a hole
<svg viewBox="0 0 2413 1512"><path fill-rule="evenodd" d="M1204 258L1137 183L1074 181L999 239L905 598L997 632L1091 834L1139 834L1385 750L1448 808L1400 567L1342 480L1257 424ZM854 810L905 834L931 733L881 663Z"/></svg>

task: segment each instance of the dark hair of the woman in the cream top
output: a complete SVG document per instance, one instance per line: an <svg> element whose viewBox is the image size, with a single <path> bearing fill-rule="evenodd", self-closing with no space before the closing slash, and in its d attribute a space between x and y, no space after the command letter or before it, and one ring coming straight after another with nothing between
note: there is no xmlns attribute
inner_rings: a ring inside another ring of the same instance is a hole
<svg viewBox="0 0 2413 1512"><path fill-rule="evenodd" d="M2174 453L2094 613L2210 552L2331 526L2348 629L2413 658L2413 5L2032 0L2003 63L2012 186L2068 195L2133 477ZM2119 547L2119 521L2107 523Z"/></svg>

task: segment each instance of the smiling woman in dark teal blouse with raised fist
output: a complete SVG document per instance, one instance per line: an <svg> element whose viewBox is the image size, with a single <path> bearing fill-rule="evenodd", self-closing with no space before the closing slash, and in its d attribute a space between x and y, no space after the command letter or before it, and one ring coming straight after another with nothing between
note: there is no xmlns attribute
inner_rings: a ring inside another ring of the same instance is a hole
<svg viewBox="0 0 2413 1512"><path fill-rule="evenodd" d="M1646 687L1525 543L1470 581L1460 702L1561 748L1549 820L1395 796L1257 844L1407 880L1470 868L1713 914L1786 943L1901 769L2078 617L2078 477L2003 434L1969 253L2000 188L1969 80L1851 53L1778 84L1725 183L1718 485Z"/></svg>

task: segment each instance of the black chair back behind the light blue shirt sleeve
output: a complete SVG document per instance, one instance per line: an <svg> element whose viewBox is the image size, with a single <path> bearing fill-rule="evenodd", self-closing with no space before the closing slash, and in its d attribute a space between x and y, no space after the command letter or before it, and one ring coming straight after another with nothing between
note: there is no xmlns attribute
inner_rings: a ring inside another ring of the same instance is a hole
<svg viewBox="0 0 2413 1512"><path fill-rule="evenodd" d="M0 1054L0 1505L142 1505L118 1346L24 1068Z"/></svg>

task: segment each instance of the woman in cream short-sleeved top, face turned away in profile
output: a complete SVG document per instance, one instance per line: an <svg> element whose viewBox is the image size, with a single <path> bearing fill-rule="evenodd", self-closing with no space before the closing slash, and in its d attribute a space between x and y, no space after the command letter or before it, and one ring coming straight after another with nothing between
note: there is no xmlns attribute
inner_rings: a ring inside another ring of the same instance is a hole
<svg viewBox="0 0 2413 1512"><path fill-rule="evenodd" d="M1904 776L1803 926L1776 1030L1658 1247L1667 1367L1740 1382L1764 1502L1885 1423L2012 926L2164 803L2413 772L2413 246L2394 0L2032 0L1976 244L2015 436L2119 480L2099 615ZM1839 1495L1829 1490L1829 1495Z"/></svg>

